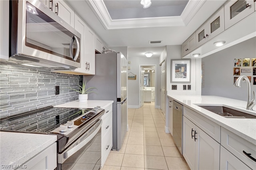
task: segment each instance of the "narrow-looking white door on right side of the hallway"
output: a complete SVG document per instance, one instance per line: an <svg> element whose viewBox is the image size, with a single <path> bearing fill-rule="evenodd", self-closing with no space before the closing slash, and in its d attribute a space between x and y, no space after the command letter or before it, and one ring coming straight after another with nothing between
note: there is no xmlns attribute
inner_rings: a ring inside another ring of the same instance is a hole
<svg viewBox="0 0 256 170"><path fill-rule="evenodd" d="M160 65L161 66L161 110L165 115L165 61Z"/></svg>

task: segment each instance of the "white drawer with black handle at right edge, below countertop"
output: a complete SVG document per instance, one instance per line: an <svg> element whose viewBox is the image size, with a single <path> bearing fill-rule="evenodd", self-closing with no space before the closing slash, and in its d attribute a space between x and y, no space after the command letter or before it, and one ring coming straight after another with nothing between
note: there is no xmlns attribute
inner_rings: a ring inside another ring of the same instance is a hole
<svg viewBox="0 0 256 170"><path fill-rule="evenodd" d="M220 144L234 154L238 159L242 160L247 166L256 169L256 162L246 156L244 152L251 154L256 159L256 145L244 140L240 136L230 132L225 128L221 128L221 142Z"/></svg>

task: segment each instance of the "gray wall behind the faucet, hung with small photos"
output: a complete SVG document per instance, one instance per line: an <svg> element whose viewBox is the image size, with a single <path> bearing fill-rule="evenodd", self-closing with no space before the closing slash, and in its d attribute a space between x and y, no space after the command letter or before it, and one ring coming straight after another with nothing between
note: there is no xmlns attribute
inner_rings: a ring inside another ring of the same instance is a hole
<svg viewBox="0 0 256 170"><path fill-rule="evenodd" d="M202 58L202 95L214 95L247 101L247 84L242 83L240 88L234 87L234 59L256 58L256 38L251 38L220 52ZM250 67L240 68L253 68ZM252 76L252 73L241 73ZM252 82L253 82L252 76ZM252 90L256 85L251 82Z"/></svg>

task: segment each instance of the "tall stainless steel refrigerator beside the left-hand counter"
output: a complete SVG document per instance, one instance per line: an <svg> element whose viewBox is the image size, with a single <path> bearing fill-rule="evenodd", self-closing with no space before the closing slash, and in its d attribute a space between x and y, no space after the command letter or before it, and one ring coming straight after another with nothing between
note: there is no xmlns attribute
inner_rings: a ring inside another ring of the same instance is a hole
<svg viewBox="0 0 256 170"><path fill-rule="evenodd" d="M120 52L95 55L95 75L84 76L87 87L96 87L88 100L114 100L113 147L119 150L127 130L127 59Z"/></svg>

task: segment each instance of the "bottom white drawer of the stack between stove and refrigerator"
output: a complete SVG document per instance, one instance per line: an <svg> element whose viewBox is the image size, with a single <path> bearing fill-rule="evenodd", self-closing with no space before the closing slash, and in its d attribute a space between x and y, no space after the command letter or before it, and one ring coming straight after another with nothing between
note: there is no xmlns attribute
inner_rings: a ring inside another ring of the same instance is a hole
<svg viewBox="0 0 256 170"><path fill-rule="evenodd" d="M106 135L102 138L101 166L104 165L112 146L113 146L113 143L112 143L112 126L111 126L108 132L106 133Z"/></svg>

